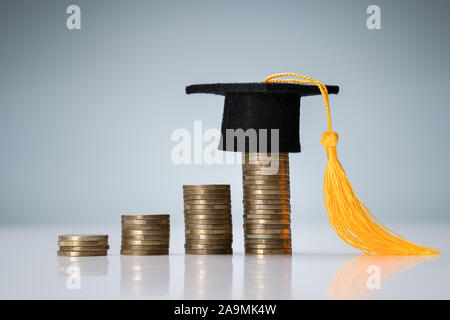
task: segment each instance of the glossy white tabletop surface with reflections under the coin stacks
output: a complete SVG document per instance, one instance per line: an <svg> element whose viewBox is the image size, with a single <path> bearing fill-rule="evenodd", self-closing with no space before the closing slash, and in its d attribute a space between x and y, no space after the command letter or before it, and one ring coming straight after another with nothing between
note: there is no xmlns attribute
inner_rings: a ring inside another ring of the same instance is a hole
<svg viewBox="0 0 450 320"><path fill-rule="evenodd" d="M0 227L0 298L450 298L447 224L402 225L411 240L440 249L441 255L434 257L362 256L328 225L296 225L292 256L244 255L239 228L234 230L233 256L185 256L182 227L172 230L170 256L120 256L119 228ZM108 233L109 255L57 257L57 235L64 233Z"/></svg>

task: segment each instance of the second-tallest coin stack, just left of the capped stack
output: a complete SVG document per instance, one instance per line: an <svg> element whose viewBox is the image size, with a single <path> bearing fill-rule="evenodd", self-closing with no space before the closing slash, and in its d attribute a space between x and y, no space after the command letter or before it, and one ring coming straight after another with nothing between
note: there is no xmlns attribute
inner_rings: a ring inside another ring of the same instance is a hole
<svg viewBox="0 0 450 320"><path fill-rule="evenodd" d="M185 253L232 254L230 185L183 186Z"/></svg>

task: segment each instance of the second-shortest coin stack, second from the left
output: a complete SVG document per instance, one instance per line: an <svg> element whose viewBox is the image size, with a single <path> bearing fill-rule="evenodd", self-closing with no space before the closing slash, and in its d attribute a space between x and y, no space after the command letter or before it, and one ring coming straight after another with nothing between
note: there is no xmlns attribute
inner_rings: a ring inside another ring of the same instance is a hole
<svg viewBox="0 0 450 320"><path fill-rule="evenodd" d="M168 214L122 216L120 254L131 256L169 254L170 217Z"/></svg>

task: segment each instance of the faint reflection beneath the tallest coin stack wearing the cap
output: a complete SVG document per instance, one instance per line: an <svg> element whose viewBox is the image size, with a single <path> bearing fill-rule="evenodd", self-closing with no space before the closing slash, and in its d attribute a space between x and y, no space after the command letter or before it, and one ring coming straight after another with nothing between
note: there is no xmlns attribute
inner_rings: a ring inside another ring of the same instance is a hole
<svg viewBox="0 0 450 320"><path fill-rule="evenodd" d="M244 299L290 299L292 257L246 255Z"/></svg>

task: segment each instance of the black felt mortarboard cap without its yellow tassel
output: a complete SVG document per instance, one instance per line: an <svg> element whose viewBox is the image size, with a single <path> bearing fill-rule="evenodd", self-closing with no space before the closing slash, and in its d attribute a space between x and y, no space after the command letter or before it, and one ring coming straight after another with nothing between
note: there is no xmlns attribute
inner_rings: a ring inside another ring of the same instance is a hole
<svg viewBox="0 0 450 320"><path fill-rule="evenodd" d="M338 86L327 86L328 93L337 94ZM279 129L279 152L300 152L300 98L320 95L316 85L295 83L215 83L194 84L186 87L186 93L211 93L225 96L222 118L220 150L249 151L237 143L226 142L227 129L255 129L258 138L260 129ZM270 132L267 134L267 149L270 152ZM254 151L254 150L251 150Z"/></svg>

